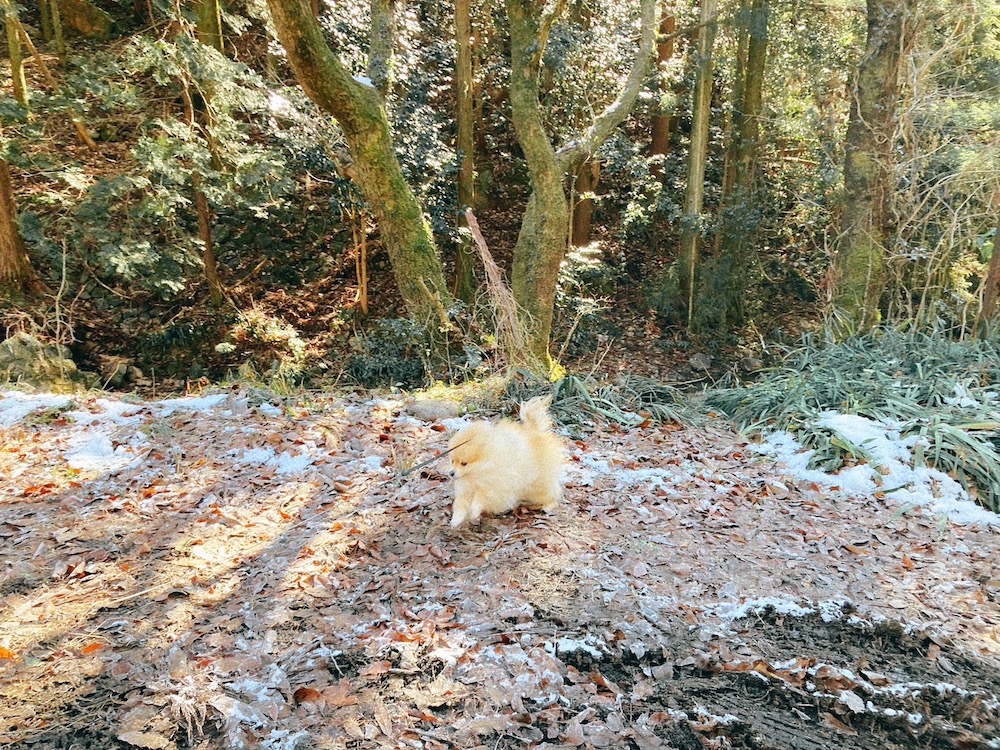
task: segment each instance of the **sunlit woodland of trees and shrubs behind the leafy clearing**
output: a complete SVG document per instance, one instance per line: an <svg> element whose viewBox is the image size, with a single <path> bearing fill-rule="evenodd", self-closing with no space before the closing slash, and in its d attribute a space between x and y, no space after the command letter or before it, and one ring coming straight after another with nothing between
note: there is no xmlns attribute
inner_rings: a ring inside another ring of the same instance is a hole
<svg viewBox="0 0 1000 750"><path fill-rule="evenodd" d="M992 2L4 8L0 316L90 385L992 346Z"/></svg>

